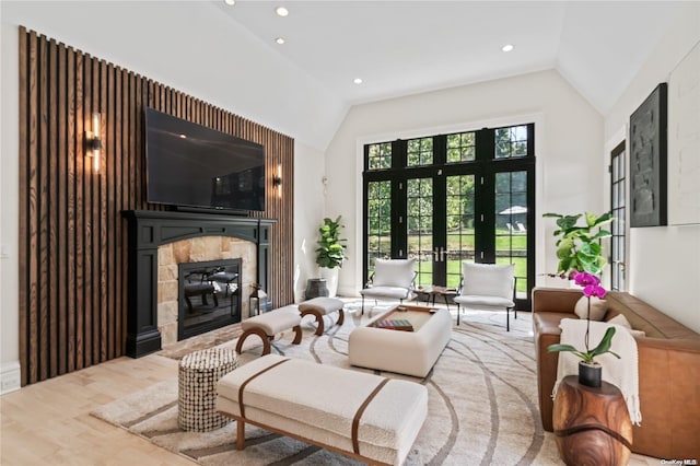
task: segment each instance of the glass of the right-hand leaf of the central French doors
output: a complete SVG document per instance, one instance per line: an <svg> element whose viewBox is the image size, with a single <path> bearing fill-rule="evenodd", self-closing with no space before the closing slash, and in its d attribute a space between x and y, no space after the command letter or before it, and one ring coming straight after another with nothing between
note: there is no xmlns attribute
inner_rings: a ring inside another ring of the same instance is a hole
<svg viewBox="0 0 700 466"><path fill-rule="evenodd" d="M457 288L462 279L462 263L474 263L474 175L447 176L446 185L446 286Z"/></svg>

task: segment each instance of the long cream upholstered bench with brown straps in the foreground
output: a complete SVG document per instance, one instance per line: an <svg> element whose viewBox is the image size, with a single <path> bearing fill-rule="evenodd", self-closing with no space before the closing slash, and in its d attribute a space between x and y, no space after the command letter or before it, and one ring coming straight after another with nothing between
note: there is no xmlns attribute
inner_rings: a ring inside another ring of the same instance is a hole
<svg viewBox="0 0 700 466"><path fill-rule="evenodd" d="M217 409L258 426L370 464L400 465L428 413L418 383L268 354L217 384Z"/></svg>

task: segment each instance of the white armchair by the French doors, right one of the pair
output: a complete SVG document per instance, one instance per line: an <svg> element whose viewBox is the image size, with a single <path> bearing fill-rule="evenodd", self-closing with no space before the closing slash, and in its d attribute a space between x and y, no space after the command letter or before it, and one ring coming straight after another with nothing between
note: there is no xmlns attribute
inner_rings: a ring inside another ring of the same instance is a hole
<svg viewBox="0 0 700 466"><path fill-rule="evenodd" d="M476 306L500 311L505 307L505 329L511 330L510 311L515 318L515 266L462 263L462 284L455 296L457 325L462 307Z"/></svg>

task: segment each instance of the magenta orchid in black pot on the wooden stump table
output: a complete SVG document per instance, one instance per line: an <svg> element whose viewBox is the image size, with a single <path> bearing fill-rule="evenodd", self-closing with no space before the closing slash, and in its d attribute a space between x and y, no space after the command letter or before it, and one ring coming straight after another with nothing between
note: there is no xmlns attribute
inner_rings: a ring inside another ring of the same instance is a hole
<svg viewBox="0 0 700 466"><path fill-rule="evenodd" d="M572 345L550 345L547 347L548 352L569 351L581 359L579 362L579 383L591 387L599 387L602 381L603 366L595 361L595 357L610 353L616 358L620 357L610 351L615 327L610 327L605 331L603 339L597 347L591 349L588 346L588 333L591 328L591 296L605 298L606 290L600 286L600 280L588 272L575 272L573 277L575 283L583 287L583 295L588 299L588 313L586 315L586 334L584 338L585 351L574 348Z"/></svg>

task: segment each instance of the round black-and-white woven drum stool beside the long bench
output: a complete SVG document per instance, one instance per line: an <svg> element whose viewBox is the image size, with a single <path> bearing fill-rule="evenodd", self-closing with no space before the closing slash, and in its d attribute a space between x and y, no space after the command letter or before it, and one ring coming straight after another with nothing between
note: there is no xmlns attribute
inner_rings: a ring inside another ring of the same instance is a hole
<svg viewBox="0 0 700 466"><path fill-rule="evenodd" d="M180 360L177 424L182 430L208 432L231 422L217 412L217 382L237 363L235 351L222 348L191 352Z"/></svg>

